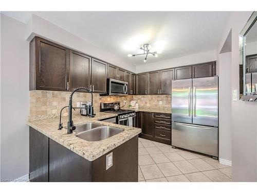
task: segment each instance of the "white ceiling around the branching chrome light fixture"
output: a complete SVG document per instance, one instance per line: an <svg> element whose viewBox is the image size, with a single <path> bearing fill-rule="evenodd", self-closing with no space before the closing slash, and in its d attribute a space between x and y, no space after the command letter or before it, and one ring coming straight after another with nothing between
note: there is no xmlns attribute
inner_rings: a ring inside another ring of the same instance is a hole
<svg viewBox="0 0 257 193"><path fill-rule="evenodd" d="M116 54L126 63L142 65L138 48L143 43L160 51L159 62L201 51L214 50L221 38L229 12L2 12L27 23L31 14Z"/></svg>

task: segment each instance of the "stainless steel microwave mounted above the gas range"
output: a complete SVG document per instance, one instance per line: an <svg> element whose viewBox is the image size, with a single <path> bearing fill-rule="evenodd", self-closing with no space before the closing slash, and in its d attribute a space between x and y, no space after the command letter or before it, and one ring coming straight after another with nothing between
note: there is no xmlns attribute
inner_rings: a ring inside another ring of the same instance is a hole
<svg viewBox="0 0 257 193"><path fill-rule="evenodd" d="M113 78L107 79L107 93L102 95L109 95L109 96L125 96L127 95L128 83L121 80L116 80Z"/></svg>

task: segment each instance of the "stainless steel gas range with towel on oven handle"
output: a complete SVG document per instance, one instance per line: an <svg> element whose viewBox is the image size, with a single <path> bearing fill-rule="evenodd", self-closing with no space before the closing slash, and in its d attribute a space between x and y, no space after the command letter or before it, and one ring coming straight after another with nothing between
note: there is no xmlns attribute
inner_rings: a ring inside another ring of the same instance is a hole
<svg viewBox="0 0 257 193"><path fill-rule="evenodd" d="M136 125L136 112L133 110L120 109L120 102L101 102L101 111L105 113L115 113L117 124L132 126Z"/></svg>

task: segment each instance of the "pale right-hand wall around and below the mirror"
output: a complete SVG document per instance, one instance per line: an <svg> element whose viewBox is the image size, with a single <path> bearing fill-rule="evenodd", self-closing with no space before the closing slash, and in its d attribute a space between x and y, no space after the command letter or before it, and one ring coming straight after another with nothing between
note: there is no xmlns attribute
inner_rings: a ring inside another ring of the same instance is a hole
<svg viewBox="0 0 257 193"><path fill-rule="evenodd" d="M237 90L237 101L231 101L232 180L257 181L257 102L239 100L238 35L252 12L231 12L217 53L232 29L231 90Z"/></svg>

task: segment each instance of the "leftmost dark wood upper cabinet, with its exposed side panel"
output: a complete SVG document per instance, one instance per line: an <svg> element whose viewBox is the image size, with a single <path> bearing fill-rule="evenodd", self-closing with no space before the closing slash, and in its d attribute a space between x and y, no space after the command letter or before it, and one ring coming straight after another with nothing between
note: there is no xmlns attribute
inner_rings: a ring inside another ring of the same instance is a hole
<svg viewBox="0 0 257 193"><path fill-rule="evenodd" d="M42 38L30 42L30 90L67 91L69 49Z"/></svg>

